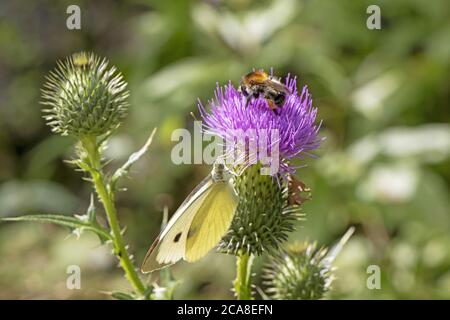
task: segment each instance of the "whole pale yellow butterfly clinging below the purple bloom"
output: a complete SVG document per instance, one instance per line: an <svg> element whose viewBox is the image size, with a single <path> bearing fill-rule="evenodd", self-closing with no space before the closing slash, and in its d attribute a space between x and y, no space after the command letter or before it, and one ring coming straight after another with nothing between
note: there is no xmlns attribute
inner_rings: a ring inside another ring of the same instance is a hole
<svg viewBox="0 0 450 320"><path fill-rule="evenodd" d="M180 259L196 261L220 241L238 204L230 178L225 165L216 162L211 174L189 194L150 246L141 266L143 273Z"/></svg>

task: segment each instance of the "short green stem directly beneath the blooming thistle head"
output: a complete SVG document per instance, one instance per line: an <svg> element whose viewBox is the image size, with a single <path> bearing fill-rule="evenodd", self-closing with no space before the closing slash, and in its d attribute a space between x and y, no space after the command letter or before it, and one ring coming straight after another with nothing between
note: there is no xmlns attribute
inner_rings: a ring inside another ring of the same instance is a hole
<svg viewBox="0 0 450 320"><path fill-rule="evenodd" d="M236 256L236 279L234 292L238 300L252 300L252 264L253 255L239 253Z"/></svg>

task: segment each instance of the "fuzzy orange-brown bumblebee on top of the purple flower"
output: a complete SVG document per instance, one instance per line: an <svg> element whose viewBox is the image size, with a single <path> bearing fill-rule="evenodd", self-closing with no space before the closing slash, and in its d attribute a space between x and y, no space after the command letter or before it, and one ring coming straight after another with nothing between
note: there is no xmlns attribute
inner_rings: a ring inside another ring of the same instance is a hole
<svg viewBox="0 0 450 320"><path fill-rule="evenodd" d="M280 79L268 75L264 71L253 71L242 77L239 91L247 98L247 103L251 97L263 97L267 100L269 108L277 113L289 89L280 82Z"/></svg>

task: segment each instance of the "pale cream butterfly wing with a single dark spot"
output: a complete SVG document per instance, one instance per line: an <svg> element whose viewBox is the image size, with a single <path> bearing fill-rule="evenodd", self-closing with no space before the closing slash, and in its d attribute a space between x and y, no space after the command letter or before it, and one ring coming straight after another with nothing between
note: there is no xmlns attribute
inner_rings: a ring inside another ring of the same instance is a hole
<svg viewBox="0 0 450 320"><path fill-rule="evenodd" d="M185 255L192 220L214 186L206 177L186 198L148 250L141 271L152 272L171 265Z"/></svg>

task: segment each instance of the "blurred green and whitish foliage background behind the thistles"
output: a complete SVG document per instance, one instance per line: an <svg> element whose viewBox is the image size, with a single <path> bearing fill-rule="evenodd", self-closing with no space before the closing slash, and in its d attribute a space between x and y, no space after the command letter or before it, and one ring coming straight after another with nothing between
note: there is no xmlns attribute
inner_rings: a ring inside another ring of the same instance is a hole
<svg viewBox="0 0 450 320"><path fill-rule="evenodd" d="M70 4L81 8L81 30L66 28ZM366 27L370 4L381 8L381 30ZM74 141L51 135L41 118L39 90L57 59L92 50L129 81L111 168L159 128L118 196L138 264L162 208L173 213L209 170L171 162L172 131L192 130L189 112L216 82L273 67L309 86L326 137L298 171L313 197L292 240L331 245L357 227L328 297L449 299L449 17L447 0L2 0L0 216L83 213L89 204L89 184L63 162ZM129 288L94 235L68 235L1 223L0 298L106 299L102 290ZM81 266L81 290L66 289L71 264ZM380 290L366 287L369 265L381 268ZM233 257L211 253L172 270L182 280L176 298L232 298Z"/></svg>

